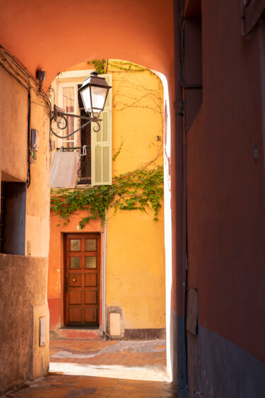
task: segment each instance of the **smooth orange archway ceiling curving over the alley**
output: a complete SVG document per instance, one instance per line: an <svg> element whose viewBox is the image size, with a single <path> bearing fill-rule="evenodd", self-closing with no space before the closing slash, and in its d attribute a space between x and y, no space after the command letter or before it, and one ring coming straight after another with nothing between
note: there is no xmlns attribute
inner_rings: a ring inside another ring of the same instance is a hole
<svg viewBox="0 0 265 398"><path fill-rule="evenodd" d="M137 62L166 76L173 65L172 0L0 0L0 45L46 86L88 59Z"/></svg>

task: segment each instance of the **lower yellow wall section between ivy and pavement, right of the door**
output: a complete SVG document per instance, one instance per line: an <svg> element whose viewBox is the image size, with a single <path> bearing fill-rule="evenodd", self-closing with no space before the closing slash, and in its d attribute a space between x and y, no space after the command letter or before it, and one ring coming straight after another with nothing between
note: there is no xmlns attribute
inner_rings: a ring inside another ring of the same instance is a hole
<svg viewBox="0 0 265 398"><path fill-rule="evenodd" d="M122 309L124 329L165 327L162 213L155 227L137 211L118 212L108 223L107 305Z"/></svg>

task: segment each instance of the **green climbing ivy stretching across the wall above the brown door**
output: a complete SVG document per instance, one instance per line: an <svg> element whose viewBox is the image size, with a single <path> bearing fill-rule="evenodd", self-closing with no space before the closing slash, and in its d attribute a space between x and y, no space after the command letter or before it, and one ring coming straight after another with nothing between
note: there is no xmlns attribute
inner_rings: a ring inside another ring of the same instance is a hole
<svg viewBox="0 0 265 398"><path fill-rule="evenodd" d="M71 213L87 210L86 216L79 222L83 229L90 220L98 217L104 226L105 215L110 208L114 209L114 213L117 210L152 210L153 220L157 221L162 199L163 166L156 166L116 176L110 186L52 190L51 210L64 220L64 224L69 222Z"/></svg>

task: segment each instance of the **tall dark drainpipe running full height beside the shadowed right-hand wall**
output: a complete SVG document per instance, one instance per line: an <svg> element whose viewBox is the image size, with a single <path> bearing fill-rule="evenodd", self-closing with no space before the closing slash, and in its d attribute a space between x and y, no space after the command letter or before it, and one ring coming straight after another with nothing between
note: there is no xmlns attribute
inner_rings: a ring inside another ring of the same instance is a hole
<svg viewBox="0 0 265 398"><path fill-rule="evenodd" d="M184 231L184 156L183 156L183 96L182 96L182 0L174 1L175 49L175 186L176 186L176 278L177 278L177 385L179 398L187 397L187 345L185 327L186 296L186 233ZM186 173L185 173L186 174Z"/></svg>

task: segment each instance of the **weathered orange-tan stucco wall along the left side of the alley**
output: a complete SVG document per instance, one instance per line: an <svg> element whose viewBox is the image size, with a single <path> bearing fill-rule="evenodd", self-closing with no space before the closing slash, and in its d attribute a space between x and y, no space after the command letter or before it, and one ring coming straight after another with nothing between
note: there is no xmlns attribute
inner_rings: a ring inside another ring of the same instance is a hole
<svg viewBox="0 0 265 398"><path fill-rule="evenodd" d="M49 325L49 110L35 81L28 79L31 85L29 101L23 72L10 59L6 62L3 52L0 59L1 181L26 183L28 129L40 133L40 152L37 152L36 163L30 164L30 186L25 188L25 210L21 206L17 210L25 227L25 236L21 233L23 238L20 238L22 252L19 256L13 255L13 248L8 246L12 253L6 249L0 258L0 280L4 281L0 289L1 393L15 384L40 377L49 369L48 332L45 345L39 346L39 318L45 318ZM5 220L3 224L8 228ZM16 239L12 231L6 235L8 239ZM28 254L28 241L31 241L31 254Z"/></svg>

